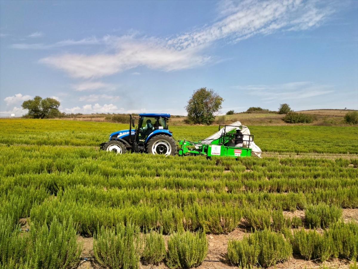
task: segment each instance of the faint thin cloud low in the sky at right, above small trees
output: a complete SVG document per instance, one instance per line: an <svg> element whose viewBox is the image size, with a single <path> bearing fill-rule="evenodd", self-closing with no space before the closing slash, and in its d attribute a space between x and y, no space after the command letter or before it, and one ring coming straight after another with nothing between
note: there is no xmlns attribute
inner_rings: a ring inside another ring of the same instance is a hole
<svg viewBox="0 0 358 269"><path fill-rule="evenodd" d="M275 85L234 86L232 88L257 96L258 99L266 102L307 99L334 92L331 85L307 81Z"/></svg>

